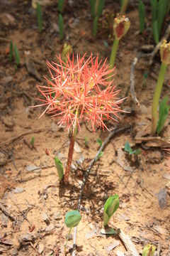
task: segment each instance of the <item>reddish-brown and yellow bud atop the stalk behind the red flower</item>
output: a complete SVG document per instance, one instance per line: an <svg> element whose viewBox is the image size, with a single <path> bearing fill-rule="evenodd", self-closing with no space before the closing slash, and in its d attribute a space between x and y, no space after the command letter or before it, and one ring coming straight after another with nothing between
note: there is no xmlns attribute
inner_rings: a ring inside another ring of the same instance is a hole
<svg viewBox="0 0 170 256"><path fill-rule="evenodd" d="M120 40L130 28L130 20L125 15L114 18L113 31L115 38Z"/></svg>

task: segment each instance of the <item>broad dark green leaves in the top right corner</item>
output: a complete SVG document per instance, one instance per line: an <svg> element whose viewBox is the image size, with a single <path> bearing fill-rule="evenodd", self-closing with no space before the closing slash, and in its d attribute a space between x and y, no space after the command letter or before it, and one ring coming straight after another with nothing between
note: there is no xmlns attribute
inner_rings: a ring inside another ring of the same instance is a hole
<svg viewBox="0 0 170 256"><path fill-rule="evenodd" d="M162 24L166 16L166 10L169 6L169 0L151 0L152 9L152 33L155 43L159 43L162 30Z"/></svg>

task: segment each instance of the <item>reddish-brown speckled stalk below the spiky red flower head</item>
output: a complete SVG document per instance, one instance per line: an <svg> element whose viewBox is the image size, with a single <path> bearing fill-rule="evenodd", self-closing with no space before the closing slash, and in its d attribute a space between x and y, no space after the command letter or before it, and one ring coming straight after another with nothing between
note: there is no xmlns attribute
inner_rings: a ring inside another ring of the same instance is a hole
<svg viewBox="0 0 170 256"><path fill-rule="evenodd" d="M69 154L68 154L67 166L66 166L65 174L64 174L64 183L67 183L68 179L69 179L69 173L70 173L70 169L71 169L72 157L73 157L73 152L74 152L74 142L75 142L74 133L72 132L72 137L69 142Z"/></svg>

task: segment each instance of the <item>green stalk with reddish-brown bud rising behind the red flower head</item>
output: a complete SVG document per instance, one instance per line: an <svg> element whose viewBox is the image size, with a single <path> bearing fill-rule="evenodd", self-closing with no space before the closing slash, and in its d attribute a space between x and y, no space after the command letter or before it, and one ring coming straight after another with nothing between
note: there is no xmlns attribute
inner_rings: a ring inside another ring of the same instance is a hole
<svg viewBox="0 0 170 256"><path fill-rule="evenodd" d="M113 23L113 33L115 36L112 52L111 52L111 58L109 60L109 65L111 68L115 65L115 56L118 50L118 43L123 36L127 33L128 29L130 28L130 20L129 18L123 16L118 16L117 18L114 18Z"/></svg>

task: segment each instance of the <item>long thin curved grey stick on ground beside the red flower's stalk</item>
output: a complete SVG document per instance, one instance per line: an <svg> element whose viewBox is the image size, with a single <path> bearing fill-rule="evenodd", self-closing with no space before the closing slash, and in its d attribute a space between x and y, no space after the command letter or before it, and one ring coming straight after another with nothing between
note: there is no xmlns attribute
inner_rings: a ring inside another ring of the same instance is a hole
<svg viewBox="0 0 170 256"><path fill-rule="evenodd" d="M115 134L118 134L119 132L124 132L125 130L130 129L130 125L123 127L123 128L117 128L115 127L115 129L113 129L112 132L110 132L110 134L108 134L108 137L106 138L106 140L103 142L103 144L101 145L100 149L98 149L98 152L96 154L96 156L94 157L94 159L91 160L91 163L89 164L88 169L86 170L84 177L83 177L83 181L81 184L81 188L80 188L80 193L79 193L79 200L78 200L78 206L77 209L80 210L80 206L81 206L81 199L83 196L83 192L84 192L84 186L86 183L87 178L89 177L89 173L92 169L92 167L94 166L95 162L98 160L98 156L101 154L101 151L103 151L103 149L106 148L107 144L111 141L112 137L115 136ZM77 245L77 227L74 228L74 245L73 245L73 252L72 252L72 256L75 256L75 252L76 252L76 245Z"/></svg>

